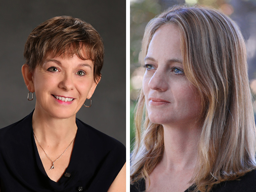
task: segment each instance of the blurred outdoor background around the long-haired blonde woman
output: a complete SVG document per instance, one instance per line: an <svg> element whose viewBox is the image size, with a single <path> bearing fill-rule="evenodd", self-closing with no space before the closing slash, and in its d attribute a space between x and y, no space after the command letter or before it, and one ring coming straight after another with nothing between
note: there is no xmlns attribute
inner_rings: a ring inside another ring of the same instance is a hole
<svg viewBox="0 0 256 192"><path fill-rule="evenodd" d="M247 45L248 75L256 112L256 0L130 0L130 142L134 140L133 112L140 93L144 69L140 50L144 29L152 18L173 5L199 4L213 7L233 19Z"/></svg>

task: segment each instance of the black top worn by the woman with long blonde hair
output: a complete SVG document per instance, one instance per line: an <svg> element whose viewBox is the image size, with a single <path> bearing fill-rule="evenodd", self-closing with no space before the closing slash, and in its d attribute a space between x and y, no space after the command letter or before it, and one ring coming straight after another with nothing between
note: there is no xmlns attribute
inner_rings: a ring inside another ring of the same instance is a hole
<svg viewBox="0 0 256 192"><path fill-rule="evenodd" d="M192 190L193 187L189 189ZM189 192L189 189L184 192ZM130 192L144 192L145 190L144 179L134 185L130 185ZM170 191L172 190L170 189ZM246 173L237 180L221 182L215 185L211 192L256 192L256 170Z"/></svg>

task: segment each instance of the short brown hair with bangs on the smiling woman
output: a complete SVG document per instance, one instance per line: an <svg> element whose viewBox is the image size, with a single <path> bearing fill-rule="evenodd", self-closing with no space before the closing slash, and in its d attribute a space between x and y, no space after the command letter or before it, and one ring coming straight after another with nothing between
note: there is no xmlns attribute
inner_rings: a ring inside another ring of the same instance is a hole
<svg viewBox="0 0 256 192"><path fill-rule="evenodd" d="M94 81L99 80L104 58L102 39L92 25L71 16L53 17L38 25L28 36L24 58L33 71L50 52L61 55L67 51L70 56L76 54L80 59L92 60Z"/></svg>

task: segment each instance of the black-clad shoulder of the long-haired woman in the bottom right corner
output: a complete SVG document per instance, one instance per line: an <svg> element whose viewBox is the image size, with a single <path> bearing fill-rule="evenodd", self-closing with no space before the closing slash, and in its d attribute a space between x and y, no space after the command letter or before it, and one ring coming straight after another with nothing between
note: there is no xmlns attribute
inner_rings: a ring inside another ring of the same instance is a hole
<svg viewBox="0 0 256 192"><path fill-rule="evenodd" d="M255 192L256 191L256 170L246 173L244 176L225 181L216 185L212 192Z"/></svg>

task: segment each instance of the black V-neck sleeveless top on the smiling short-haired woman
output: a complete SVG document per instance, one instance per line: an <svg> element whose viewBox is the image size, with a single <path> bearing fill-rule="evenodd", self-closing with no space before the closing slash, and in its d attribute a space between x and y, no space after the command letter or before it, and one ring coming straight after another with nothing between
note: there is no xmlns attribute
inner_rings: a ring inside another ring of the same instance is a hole
<svg viewBox="0 0 256 192"><path fill-rule="evenodd" d="M58 182L46 174L32 129L33 112L0 129L1 192L104 192L125 163L122 143L76 119L70 163Z"/></svg>

